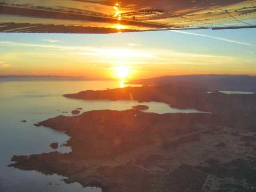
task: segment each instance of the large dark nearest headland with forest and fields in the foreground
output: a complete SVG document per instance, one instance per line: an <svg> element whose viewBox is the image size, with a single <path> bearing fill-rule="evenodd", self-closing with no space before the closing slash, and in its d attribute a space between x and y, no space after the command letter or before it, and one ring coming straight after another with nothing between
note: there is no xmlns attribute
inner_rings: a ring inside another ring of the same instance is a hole
<svg viewBox="0 0 256 192"><path fill-rule="evenodd" d="M103 192L252 191L256 141L248 146L241 138L255 132L219 119L139 110L57 116L39 125L66 131L72 152L14 156L10 166L61 174Z"/></svg>

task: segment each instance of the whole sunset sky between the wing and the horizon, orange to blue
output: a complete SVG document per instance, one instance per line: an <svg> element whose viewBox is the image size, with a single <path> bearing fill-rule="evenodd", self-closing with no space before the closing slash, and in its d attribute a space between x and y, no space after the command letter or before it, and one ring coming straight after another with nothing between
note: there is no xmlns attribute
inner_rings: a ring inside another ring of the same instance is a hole
<svg viewBox="0 0 256 192"><path fill-rule="evenodd" d="M181 74L256 75L254 32L255 29L105 35L2 33L0 75L125 80Z"/></svg>

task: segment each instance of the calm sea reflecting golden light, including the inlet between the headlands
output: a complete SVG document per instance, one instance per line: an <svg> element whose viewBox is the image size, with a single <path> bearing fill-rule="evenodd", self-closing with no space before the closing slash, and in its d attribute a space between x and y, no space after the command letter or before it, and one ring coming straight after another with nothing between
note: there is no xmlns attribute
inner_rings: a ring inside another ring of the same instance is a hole
<svg viewBox="0 0 256 192"><path fill-rule="evenodd" d="M137 86L129 85L126 86ZM41 81L41 82L0 82L0 192L100 192L100 188L82 188L78 183L66 184L65 177L44 175L36 171L23 171L7 167L13 155L40 154L54 151L52 142L64 143L69 137L46 127L33 124L47 118L63 115L81 107L81 112L90 110L126 110L137 104L150 108L147 112L173 113L198 112L179 110L158 102L138 103L136 101L75 100L62 95L82 90L104 90L120 87L120 82L112 81ZM60 110L60 111L58 111ZM27 120L26 123L21 120ZM59 152L70 152L68 147L60 147Z"/></svg>

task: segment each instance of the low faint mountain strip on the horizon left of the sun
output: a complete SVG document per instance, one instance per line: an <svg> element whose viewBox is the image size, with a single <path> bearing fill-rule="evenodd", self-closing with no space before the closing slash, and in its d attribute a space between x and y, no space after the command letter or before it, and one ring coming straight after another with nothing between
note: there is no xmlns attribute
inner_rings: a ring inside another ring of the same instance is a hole
<svg viewBox="0 0 256 192"><path fill-rule="evenodd" d="M58 81L58 80L109 80L107 78L88 78L86 76L55 76L55 75L0 75L0 81Z"/></svg>

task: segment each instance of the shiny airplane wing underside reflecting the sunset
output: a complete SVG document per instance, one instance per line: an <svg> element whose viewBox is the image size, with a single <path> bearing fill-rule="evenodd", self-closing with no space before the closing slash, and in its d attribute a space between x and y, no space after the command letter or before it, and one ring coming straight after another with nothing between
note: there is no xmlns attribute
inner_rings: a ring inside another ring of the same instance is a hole
<svg viewBox="0 0 256 192"><path fill-rule="evenodd" d="M256 27L256 0L0 0L0 32Z"/></svg>

